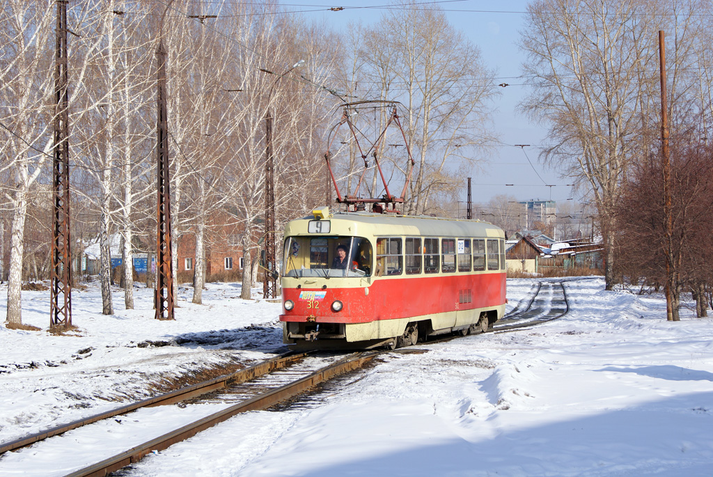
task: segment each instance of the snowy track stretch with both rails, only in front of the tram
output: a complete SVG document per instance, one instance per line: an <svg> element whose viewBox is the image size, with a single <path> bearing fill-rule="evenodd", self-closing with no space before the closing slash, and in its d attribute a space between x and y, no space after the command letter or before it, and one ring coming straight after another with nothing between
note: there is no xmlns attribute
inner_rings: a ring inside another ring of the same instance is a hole
<svg viewBox="0 0 713 477"><path fill-rule="evenodd" d="M236 414L267 409L302 394L334 376L363 366L378 354L289 352L229 376L5 443L0 451L5 453L35 444L32 453L44 458L56 453L57 448L71 448L71 458L60 453L56 463L45 464L53 469L53 475L106 476ZM168 408L172 412L157 407L176 403L179 405ZM195 405L186 406L186 403ZM51 436L56 437L46 440ZM97 462L100 454L103 458ZM12 471L13 459L7 459L4 454L1 458L4 469ZM24 473L21 465L16 470Z"/></svg>

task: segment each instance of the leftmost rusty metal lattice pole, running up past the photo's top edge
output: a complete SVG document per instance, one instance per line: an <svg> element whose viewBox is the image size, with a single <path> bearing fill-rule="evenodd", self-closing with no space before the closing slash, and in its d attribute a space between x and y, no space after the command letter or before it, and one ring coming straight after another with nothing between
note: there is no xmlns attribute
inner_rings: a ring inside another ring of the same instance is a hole
<svg viewBox="0 0 713 477"><path fill-rule="evenodd" d="M50 327L72 326L72 261L69 237L69 112L67 73L67 1L57 0L57 45L54 69L56 108L52 167L53 227Z"/></svg>

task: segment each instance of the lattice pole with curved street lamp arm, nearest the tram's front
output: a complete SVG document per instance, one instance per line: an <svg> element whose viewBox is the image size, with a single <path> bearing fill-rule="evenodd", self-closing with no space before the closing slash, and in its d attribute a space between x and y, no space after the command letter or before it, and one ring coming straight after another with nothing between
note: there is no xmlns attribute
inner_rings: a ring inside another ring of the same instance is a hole
<svg viewBox="0 0 713 477"><path fill-rule="evenodd" d="M288 68L284 73L277 75L275 81L270 86L267 94L267 105L265 106L265 279L262 282L262 297L275 298L277 293L277 270L275 270L275 256L277 255L275 245L275 158L272 155L272 111L270 111L270 100L275 91L277 81L287 75L294 68L304 65L304 60L299 60ZM265 73L275 74L272 71L263 69Z"/></svg>

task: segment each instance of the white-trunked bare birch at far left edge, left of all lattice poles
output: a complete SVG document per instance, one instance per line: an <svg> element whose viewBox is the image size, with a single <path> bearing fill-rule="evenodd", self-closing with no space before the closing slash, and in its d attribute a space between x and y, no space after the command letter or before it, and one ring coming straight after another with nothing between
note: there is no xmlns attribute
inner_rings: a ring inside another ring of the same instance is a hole
<svg viewBox="0 0 713 477"><path fill-rule="evenodd" d="M11 177L4 190L12 210L7 322L22 326L21 286L25 220L30 189L51 159L53 2L5 2L0 6L0 168ZM32 120L31 120L32 118Z"/></svg>

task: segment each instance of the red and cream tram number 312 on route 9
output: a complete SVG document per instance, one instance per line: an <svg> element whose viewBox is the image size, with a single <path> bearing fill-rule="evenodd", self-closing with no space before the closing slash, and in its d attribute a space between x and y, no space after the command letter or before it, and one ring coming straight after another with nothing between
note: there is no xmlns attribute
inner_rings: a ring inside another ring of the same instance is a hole
<svg viewBox="0 0 713 477"><path fill-rule="evenodd" d="M339 212L284 230L284 342L397 347L484 332L506 303L505 235L477 220Z"/></svg>

